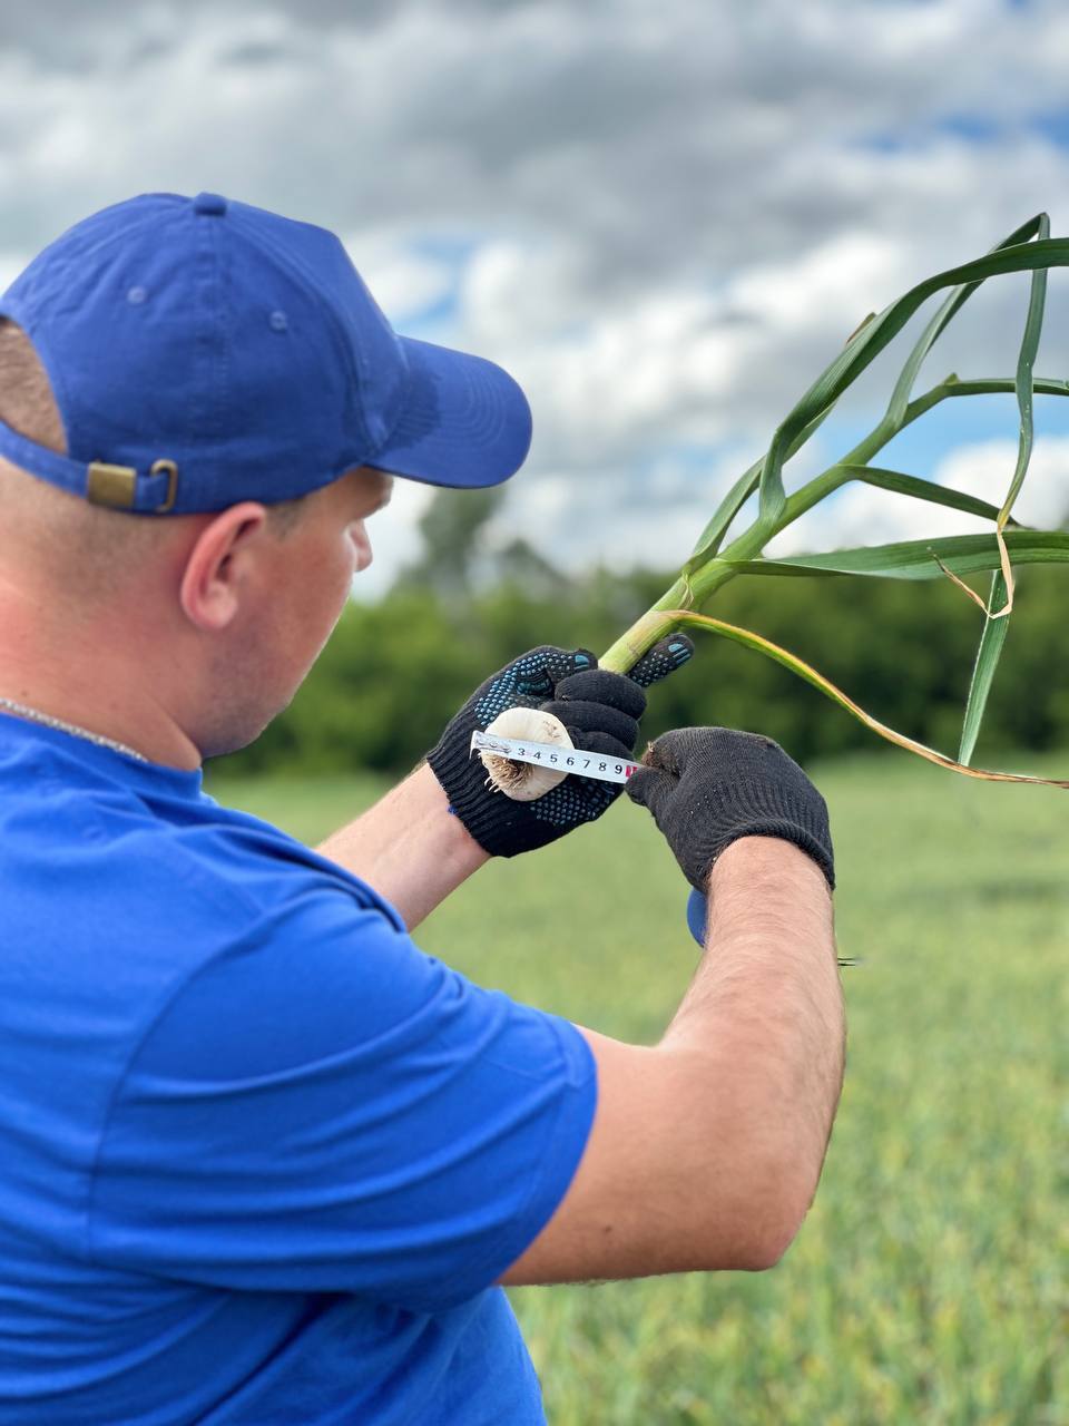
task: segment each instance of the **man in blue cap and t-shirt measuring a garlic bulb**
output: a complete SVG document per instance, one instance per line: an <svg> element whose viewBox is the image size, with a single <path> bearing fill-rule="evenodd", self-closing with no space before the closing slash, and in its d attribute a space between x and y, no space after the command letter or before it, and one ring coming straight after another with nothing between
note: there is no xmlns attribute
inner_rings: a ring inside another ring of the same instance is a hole
<svg viewBox="0 0 1069 1426"><path fill-rule="evenodd" d="M611 800L490 793L472 730L550 706L630 752L686 645L523 655L319 851L201 763L286 706L393 476L519 468L519 388L214 194L86 220L0 317L0 1423L543 1420L496 1285L761 1269L807 1211L822 799L765 739L659 740L629 790L711 910L656 1047L472 985L412 928Z"/></svg>

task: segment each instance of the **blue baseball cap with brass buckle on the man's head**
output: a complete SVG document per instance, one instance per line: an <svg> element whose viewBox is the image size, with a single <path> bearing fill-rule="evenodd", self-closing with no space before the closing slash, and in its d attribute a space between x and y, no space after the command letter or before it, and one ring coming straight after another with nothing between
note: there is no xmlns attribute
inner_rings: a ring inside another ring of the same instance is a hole
<svg viewBox="0 0 1069 1426"><path fill-rule="evenodd" d="M507 372L398 337L332 232L220 194L143 194L86 218L0 317L44 364L68 449L0 422L0 455L113 509L272 505L356 466L499 485L530 445Z"/></svg>

